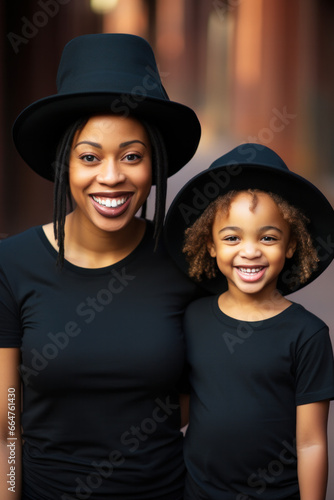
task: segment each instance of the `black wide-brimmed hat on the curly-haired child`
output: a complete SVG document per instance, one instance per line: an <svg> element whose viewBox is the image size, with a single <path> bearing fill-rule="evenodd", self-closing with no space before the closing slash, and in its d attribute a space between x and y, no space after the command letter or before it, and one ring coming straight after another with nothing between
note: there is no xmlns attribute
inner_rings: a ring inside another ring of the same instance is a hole
<svg viewBox="0 0 334 500"><path fill-rule="evenodd" d="M327 198L307 179L291 172L270 148L260 144L242 144L221 156L203 172L190 179L173 200L165 221L164 238L176 264L185 273L188 263L182 252L185 230L204 212L211 201L228 191L260 189L276 193L298 207L310 220L308 230L318 252L316 271L305 283L296 283L291 271L296 266L288 259L280 273L277 288L283 295L299 290L317 278L334 258L334 210ZM227 289L225 277L219 273L200 284L212 293Z"/></svg>

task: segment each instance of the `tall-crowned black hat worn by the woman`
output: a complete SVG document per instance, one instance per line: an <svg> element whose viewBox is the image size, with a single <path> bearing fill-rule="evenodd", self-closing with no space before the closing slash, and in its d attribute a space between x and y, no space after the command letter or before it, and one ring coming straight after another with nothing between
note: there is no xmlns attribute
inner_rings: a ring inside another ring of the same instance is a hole
<svg viewBox="0 0 334 500"><path fill-rule="evenodd" d="M80 117L118 113L156 125L167 149L168 176L195 154L201 127L195 112L170 101L149 43L130 34L92 34L64 48L57 94L40 99L18 116L16 148L42 177L53 180L52 163L66 128Z"/></svg>

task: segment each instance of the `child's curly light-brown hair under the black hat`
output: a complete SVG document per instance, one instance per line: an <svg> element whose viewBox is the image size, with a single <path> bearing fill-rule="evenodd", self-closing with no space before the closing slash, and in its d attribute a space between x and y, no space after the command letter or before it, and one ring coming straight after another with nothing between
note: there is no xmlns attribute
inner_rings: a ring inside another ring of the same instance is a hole
<svg viewBox="0 0 334 500"><path fill-rule="evenodd" d="M210 203L196 222L186 229L183 252L189 262L188 274L196 281L201 281L203 275L214 278L217 273L216 259L208 251L208 243L212 241L212 226L216 214L222 212L228 215L233 199L241 191L229 191ZM283 219L290 225L291 238L296 241L294 253L293 274L300 283L305 283L317 268L319 261L317 251L313 246L312 238L307 230L308 218L299 208L290 205L281 196L258 189L243 190L252 196L250 210L253 211L258 203L257 193L268 194L276 203Z"/></svg>

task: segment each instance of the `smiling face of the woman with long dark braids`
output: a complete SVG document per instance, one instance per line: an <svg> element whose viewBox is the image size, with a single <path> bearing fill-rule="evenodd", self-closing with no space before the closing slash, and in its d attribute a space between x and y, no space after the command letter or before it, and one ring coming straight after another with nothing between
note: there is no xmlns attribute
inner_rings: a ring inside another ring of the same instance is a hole
<svg viewBox="0 0 334 500"><path fill-rule="evenodd" d="M94 116L74 136L69 182L74 213L103 231L124 229L152 185L151 145L134 118Z"/></svg>

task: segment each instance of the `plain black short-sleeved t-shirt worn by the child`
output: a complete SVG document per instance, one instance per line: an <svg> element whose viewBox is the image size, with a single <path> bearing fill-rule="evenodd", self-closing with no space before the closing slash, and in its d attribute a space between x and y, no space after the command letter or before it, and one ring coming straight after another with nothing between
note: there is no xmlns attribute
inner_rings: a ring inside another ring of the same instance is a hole
<svg viewBox="0 0 334 500"><path fill-rule="evenodd" d="M299 499L296 405L334 397L327 326L296 303L263 321L236 320L215 296L190 304L184 334L185 498Z"/></svg>

